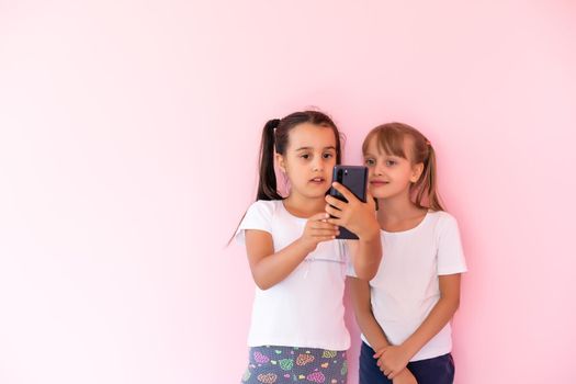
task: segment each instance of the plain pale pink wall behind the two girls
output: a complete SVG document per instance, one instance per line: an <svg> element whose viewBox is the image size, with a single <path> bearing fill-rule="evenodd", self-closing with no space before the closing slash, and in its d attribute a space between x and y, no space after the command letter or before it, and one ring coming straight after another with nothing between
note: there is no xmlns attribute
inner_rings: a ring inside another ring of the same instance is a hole
<svg viewBox="0 0 576 384"><path fill-rule="evenodd" d="M224 246L262 124L309 105L349 163L387 121L436 146L456 383L571 382L574 1L1 0L0 383L237 383L253 283Z"/></svg>

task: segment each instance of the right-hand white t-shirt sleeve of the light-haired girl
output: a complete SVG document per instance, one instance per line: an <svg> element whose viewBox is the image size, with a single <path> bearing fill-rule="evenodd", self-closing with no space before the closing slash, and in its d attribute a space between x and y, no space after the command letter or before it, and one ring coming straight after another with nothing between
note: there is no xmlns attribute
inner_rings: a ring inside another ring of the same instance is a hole
<svg viewBox="0 0 576 384"><path fill-rule="evenodd" d="M443 216L439 223L438 236L438 274L466 272L466 260L456 219L450 215Z"/></svg>

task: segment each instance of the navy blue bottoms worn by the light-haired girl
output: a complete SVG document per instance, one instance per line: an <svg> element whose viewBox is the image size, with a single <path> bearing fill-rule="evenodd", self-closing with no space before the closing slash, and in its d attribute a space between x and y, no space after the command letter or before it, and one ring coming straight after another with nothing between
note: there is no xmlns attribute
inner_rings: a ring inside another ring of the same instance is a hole
<svg viewBox="0 0 576 384"><path fill-rule="evenodd" d="M392 380L388 380L377 366L377 360L373 358L374 353L376 352L372 348L362 342L359 384L392 384ZM454 360L451 353L409 362L407 368L418 384L452 384L454 382Z"/></svg>

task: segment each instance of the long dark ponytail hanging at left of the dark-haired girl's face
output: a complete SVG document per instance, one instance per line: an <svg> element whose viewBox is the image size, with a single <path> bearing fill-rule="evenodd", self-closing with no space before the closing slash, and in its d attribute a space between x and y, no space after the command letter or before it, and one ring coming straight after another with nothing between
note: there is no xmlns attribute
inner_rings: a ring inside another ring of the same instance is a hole
<svg viewBox="0 0 576 384"><path fill-rule="evenodd" d="M273 118L266 123L262 129L260 144L260 176L256 200L282 200L276 190L276 174L274 171L274 129L280 120Z"/></svg>

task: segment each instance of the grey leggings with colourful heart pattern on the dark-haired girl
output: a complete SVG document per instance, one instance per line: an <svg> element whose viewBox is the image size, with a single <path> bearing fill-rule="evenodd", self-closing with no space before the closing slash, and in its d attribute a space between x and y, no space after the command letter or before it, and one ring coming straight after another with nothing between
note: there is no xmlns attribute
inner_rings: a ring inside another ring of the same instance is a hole
<svg viewBox="0 0 576 384"><path fill-rule="evenodd" d="M346 384L346 351L296 347L250 348L242 384Z"/></svg>

